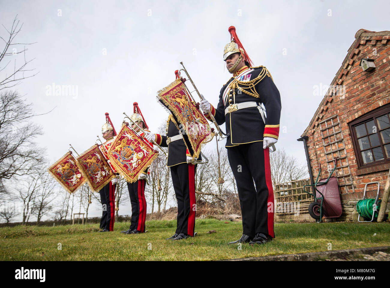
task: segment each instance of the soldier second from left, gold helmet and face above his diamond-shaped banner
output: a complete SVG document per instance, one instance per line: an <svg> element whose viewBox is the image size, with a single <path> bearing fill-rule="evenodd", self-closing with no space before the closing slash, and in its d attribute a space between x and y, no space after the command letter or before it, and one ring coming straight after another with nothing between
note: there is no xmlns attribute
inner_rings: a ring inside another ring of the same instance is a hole
<svg viewBox="0 0 390 288"><path fill-rule="evenodd" d="M141 113L138 103L134 102L134 113L130 116L131 120L137 123L145 132L149 129L147 126L144 116ZM131 127L134 128L137 133L140 129L134 123L130 123ZM144 136L144 133L139 133L140 136ZM146 139L144 138L146 141ZM147 141L151 147L153 144ZM127 183L129 190L130 202L131 202L131 224L127 231L121 231L125 234L138 234L145 232L145 219L146 219L146 200L145 200L145 185L146 185L147 169L138 176L138 180L134 183Z"/></svg>

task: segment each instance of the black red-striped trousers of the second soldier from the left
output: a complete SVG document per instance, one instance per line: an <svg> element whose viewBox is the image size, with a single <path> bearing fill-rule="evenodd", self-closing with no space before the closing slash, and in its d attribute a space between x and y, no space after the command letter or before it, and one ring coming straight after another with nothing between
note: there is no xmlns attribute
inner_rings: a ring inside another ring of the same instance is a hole
<svg viewBox="0 0 390 288"><path fill-rule="evenodd" d="M145 200L146 180L137 180L134 183L127 182L131 202L131 224L130 230L137 229L145 232L146 200Z"/></svg>

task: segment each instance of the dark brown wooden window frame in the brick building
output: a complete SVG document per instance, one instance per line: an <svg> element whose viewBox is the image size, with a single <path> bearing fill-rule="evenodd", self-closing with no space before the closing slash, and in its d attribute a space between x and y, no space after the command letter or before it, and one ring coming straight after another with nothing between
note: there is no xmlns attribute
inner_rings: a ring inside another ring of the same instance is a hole
<svg viewBox="0 0 390 288"><path fill-rule="evenodd" d="M382 115L385 115L387 113L390 113L390 103L389 104L386 104L386 105L383 105L379 108L376 108L358 118L356 118L355 120L352 120L351 122L348 123L348 126L349 126L349 133L351 134L351 139L352 139L352 145L353 145L353 150L355 151L355 155L356 155L356 163L358 164L358 170L363 170L365 168L371 168L371 167L376 167L378 165L386 165L386 164L390 164L390 158L387 158L387 159L383 159L383 160L377 160L377 161L374 161L374 162L370 162L370 163L367 163L367 164L364 164L363 162L363 157L360 153L360 146L359 146L359 143L358 143L358 137L356 135L356 131L355 131L355 127L360 125L360 124L363 124L365 122L368 122L369 120L374 120L374 123L377 127L377 134L378 134L378 138L379 138L379 143L380 143L380 147L382 147L382 152L383 152L383 157L386 158L386 153L385 151L383 151L383 146L384 144L382 143L382 139L379 135L379 126L378 126L378 123L376 122L375 118L379 117L379 116L382 116ZM388 129L388 128L386 128Z"/></svg>

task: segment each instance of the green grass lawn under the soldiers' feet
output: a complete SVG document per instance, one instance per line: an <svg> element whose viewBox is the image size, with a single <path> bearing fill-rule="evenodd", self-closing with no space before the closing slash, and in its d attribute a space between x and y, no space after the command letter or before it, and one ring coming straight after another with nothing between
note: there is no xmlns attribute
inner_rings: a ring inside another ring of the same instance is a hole
<svg viewBox="0 0 390 288"><path fill-rule="evenodd" d="M176 220L147 221L144 234L121 234L129 223L115 223L115 230L106 233L97 233L97 227L0 228L0 260L221 260L328 251L328 243L332 250L390 245L389 223L275 223L273 242L245 243L241 249L227 244L241 237L241 222L197 219L198 235L179 241L165 240L174 234Z"/></svg>

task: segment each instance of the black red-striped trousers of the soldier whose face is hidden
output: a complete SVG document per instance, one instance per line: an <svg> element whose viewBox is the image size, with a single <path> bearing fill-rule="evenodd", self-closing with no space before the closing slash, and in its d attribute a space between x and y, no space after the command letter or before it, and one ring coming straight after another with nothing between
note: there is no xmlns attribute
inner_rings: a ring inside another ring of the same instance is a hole
<svg viewBox="0 0 390 288"><path fill-rule="evenodd" d="M195 171L196 165L187 163L170 167L177 199L177 234L194 235L196 214Z"/></svg>

